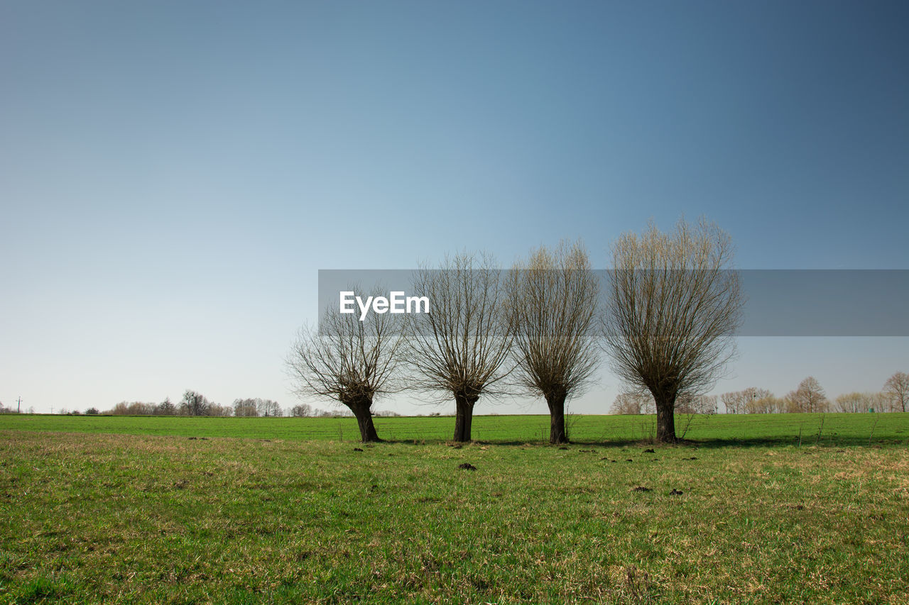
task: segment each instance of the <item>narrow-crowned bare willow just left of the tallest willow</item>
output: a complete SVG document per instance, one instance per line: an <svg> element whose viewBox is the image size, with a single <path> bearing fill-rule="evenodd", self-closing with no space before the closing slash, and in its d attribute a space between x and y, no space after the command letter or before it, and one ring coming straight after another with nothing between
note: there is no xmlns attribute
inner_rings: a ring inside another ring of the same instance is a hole
<svg viewBox="0 0 909 605"><path fill-rule="evenodd" d="M545 246L506 280L516 366L511 381L542 395L550 443L566 443L565 401L584 392L599 362L594 339L600 284L581 243Z"/></svg>

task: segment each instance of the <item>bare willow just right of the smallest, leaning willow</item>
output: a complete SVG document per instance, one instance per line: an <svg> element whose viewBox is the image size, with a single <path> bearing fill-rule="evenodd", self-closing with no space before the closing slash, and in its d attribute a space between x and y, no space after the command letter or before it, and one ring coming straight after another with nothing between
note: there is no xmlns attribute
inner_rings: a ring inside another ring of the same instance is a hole
<svg viewBox="0 0 909 605"><path fill-rule="evenodd" d="M481 395L504 393L513 335L501 282L488 254L446 256L440 269L414 275L412 289L433 306L409 322L411 388L454 395L454 441L470 441Z"/></svg>

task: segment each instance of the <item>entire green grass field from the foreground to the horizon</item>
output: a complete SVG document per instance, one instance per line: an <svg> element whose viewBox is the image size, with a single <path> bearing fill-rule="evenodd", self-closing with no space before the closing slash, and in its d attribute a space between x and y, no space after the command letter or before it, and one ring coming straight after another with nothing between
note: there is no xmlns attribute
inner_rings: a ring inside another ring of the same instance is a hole
<svg viewBox="0 0 909 605"><path fill-rule="evenodd" d="M909 602L909 414L346 420L0 417L0 602Z"/></svg>

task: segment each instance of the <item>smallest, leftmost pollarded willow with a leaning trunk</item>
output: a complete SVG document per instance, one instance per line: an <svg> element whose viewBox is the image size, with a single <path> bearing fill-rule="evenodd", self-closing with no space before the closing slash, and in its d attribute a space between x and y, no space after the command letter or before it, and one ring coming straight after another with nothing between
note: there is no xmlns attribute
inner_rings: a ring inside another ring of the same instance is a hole
<svg viewBox="0 0 909 605"><path fill-rule="evenodd" d="M369 313L360 321L329 307L318 329L300 330L287 357L295 393L342 403L354 413L363 441L381 441L373 402L396 388L393 373L402 342L401 323L388 313Z"/></svg>

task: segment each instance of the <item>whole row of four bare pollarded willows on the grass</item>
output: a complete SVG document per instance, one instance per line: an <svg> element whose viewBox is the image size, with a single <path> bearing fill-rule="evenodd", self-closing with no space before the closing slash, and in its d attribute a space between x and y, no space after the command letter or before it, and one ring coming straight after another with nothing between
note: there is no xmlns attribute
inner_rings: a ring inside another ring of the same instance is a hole
<svg viewBox="0 0 909 605"><path fill-rule="evenodd" d="M411 289L432 312L402 322L326 309L320 330L300 332L288 367L298 394L347 406L364 441L378 440L375 398L407 388L454 398L455 441L470 440L481 396L542 396L550 441L560 443L565 402L589 385L602 347L634 392L653 397L657 439L674 441L676 403L693 404L734 353L744 297L737 273L725 270L732 250L704 220L625 233L612 249L605 308L580 243L541 246L504 277L488 255L457 254L442 271L415 273Z"/></svg>

